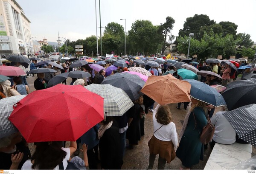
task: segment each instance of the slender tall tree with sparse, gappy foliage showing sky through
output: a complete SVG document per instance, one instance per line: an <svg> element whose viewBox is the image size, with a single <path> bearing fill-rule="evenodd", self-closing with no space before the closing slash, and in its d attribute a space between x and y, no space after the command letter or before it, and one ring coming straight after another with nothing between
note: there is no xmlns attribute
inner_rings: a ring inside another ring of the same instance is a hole
<svg viewBox="0 0 256 174"><path fill-rule="evenodd" d="M158 32L163 34L163 45L161 48L161 55L163 55L166 48L168 48L171 45L172 40L175 38L175 36L171 34L174 23L175 20L172 17L166 17L166 22L160 24L159 26ZM169 42L167 42L167 39Z"/></svg>

